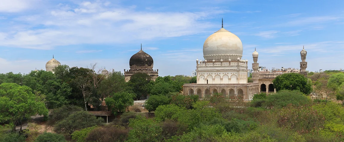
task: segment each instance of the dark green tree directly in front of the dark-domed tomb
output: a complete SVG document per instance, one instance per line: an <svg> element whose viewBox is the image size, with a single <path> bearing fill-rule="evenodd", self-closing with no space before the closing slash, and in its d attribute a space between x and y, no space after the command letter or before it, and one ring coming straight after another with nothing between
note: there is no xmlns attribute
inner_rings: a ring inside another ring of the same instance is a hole
<svg viewBox="0 0 344 142"><path fill-rule="evenodd" d="M140 99L140 97L146 99L151 91L153 81L151 81L151 77L148 74L137 73L130 77L128 85L135 92L136 99Z"/></svg>

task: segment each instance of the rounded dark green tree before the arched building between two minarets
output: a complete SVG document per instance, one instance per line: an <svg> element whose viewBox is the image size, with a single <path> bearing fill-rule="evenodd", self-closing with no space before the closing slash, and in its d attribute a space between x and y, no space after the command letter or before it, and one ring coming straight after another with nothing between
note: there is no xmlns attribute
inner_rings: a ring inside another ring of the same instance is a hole
<svg viewBox="0 0 344 142"><path fill-rule="evenodd" d="M309 95L312 89L308 79L297 73L279 75L272 80L272 83L276 91L300 90L303 94Z"/></svg>

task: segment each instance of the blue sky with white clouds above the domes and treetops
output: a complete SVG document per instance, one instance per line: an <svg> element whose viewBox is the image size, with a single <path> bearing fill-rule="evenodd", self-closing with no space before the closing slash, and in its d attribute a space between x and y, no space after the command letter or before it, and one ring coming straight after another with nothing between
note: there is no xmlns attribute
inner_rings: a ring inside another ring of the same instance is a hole
<svg viewBox="0 0 344 142"><path fill-rule="evenodd" d="M159 76L191 75L206 38L237 35L251 69L344 68L343 0L0 0L0 73L45 69L53 55L70 67L121 71L140 50Z"/></svg>

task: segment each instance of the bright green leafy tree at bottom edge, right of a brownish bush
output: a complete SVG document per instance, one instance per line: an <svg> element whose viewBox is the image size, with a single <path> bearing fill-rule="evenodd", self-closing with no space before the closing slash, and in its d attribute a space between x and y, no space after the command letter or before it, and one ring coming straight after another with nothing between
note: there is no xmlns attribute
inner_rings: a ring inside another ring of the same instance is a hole
<svg viewBox="0 0 344 142"><path fill-rule="evenodd" d="M159 123L152 119L146 119L137 116L136 119L130 119L128 141L132 142L159 142L162 140L162 129Z"/></svg>

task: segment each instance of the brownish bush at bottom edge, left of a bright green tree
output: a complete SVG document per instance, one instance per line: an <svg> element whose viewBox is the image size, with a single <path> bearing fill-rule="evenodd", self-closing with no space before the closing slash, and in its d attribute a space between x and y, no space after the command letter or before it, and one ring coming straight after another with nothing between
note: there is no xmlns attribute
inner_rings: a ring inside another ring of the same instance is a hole
<svg viewBox="0 0 344 142"><path fill-rule="evenodd" d="M89 132L86 142L122 142L127 139L128 132L128 129L120 126L99 127Z"/></svg>

